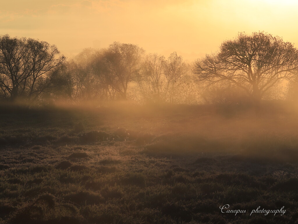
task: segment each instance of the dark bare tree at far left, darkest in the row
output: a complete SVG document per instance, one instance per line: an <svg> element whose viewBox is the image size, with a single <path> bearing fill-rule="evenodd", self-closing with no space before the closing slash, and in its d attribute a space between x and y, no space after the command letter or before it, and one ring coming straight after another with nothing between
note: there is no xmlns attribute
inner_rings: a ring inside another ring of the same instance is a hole
<svg viewBox="0 0 298 224"><path fill-rule="evenodd" d="M0 88L5 98L36 100L51 91L63 64L55 45L31 38L0 36Z"/></svg>

